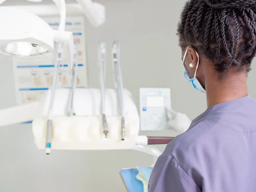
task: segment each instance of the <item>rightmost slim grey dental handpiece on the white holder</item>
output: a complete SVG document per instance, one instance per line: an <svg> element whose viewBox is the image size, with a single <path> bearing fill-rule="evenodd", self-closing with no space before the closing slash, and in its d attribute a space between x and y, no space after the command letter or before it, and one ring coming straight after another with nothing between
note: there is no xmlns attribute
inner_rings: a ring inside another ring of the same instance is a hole
<svg viewBox="0 0 256 192"><path fill-rule="evenodd" d="M121 140L125 140L125 117L123 108L123 83L122 83L122 72L120 66L120 47L119 42L114 41L113 43L113 67L115 71L115 87L118 94L118 106L119 115L121 116Z"/></svg>

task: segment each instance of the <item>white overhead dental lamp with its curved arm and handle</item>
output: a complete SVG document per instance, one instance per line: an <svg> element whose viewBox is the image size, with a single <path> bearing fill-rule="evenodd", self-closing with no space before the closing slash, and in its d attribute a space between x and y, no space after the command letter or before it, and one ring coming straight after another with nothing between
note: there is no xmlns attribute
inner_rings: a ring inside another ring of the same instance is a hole
<svg viewBox="0 0 256 192"><path fill-rule="evenodd" d="M0 4L5 0L0 0ZM54 0L61 15L58 30L32 13L14 7L0 7L0 52L18 57L32 57L54 53L54 42L67 50L67 64L73 66L73 34L65 31L66 7L64 0Z"/></svg>

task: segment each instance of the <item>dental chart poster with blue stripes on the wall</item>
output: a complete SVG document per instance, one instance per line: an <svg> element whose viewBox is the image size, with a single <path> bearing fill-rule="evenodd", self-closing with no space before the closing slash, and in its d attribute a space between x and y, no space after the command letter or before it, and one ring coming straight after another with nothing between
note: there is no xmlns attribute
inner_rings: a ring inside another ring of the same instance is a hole
<svg viewBox="0 0 256 192"><path fill-rule="evenodd" d="M45 17L52 29L57 30L59 17ZM87 63L85 49L84 17L67 17L66 31L73 32L74 41L78 42L78 78L77 87L87 87ZM72 73L67 67L66 49L63 49L61 66L58 73L58 86L71 87ZM17 105L39 101L52 86L53 56L40 58L13 58L15 93Z"/></svg>

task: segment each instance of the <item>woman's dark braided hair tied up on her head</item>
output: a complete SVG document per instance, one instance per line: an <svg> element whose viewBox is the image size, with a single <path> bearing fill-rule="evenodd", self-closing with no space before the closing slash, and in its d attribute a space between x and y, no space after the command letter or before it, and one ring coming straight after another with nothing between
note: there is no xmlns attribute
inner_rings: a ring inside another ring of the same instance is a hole
<svg viewBox="0 0 256 192"><path fill-rule="evenodd" d="M256 54L256 0L189 0L177 35L180 47L200 50L220 78L231 66L248 73Z"/></svg>

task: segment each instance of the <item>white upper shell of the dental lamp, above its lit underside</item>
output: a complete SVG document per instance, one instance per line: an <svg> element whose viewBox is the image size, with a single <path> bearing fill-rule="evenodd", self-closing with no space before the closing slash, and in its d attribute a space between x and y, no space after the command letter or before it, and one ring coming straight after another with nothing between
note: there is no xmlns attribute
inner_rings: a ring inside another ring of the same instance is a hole
<svg viewBox="0 0 256 192"><path fill-rule="evenodd" d="M0 47L14 42L29 42L53 52L53 30L36 15L21 9L0 7L0 26ZM8 54L3 50L1 52Z"/></svg>

